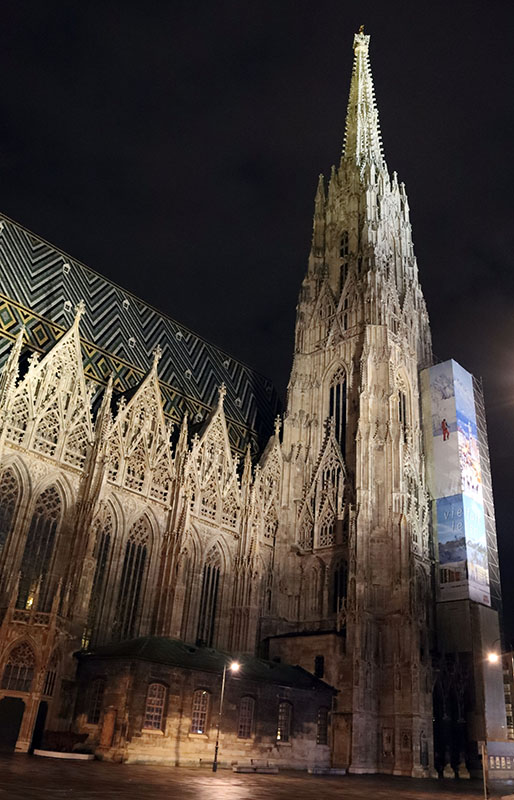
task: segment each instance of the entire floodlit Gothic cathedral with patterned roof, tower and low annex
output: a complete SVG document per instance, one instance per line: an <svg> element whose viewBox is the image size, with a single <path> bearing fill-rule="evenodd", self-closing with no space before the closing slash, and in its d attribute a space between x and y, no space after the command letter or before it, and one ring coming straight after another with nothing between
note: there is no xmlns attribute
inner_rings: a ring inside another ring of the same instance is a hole
<svg viewBox="0 0 514 800"><path fill-rule="evenodd" d="M283 416L264 377L1 217L4 747L212 762L233 657L225 765L465 777L502 738L498 675L473 701L455 683L467 664L478 685L499 631L494 510L473 573L491 589L466 594L470 570L437 563L430 328L368 46L316 192Z"/></svg>

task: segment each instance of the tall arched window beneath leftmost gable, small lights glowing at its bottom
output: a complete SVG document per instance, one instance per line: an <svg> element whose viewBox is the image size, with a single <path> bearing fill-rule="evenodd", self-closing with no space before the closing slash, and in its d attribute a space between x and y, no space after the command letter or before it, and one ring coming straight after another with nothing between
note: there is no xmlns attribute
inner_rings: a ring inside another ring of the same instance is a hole
<svg viewBox="0 0 514 800"><path fill-rule="evenodd" d="M30 608L39 591L39 608L47 605L47 582L61 516L61 498L55 486L39 495L30 520L20 566L18 607Z"/></svg>

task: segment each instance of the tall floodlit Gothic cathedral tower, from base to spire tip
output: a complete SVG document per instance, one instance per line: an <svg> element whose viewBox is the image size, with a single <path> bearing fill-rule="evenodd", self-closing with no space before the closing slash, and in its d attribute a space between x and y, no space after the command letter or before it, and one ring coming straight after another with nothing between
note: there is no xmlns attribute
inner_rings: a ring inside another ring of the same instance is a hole
<svg viewBox="0 0 514 800"><path fill-rule="evenodd" d="M405 187L389 174L368 57L339 167L320 176L284 422L270 654L339 689L334 765L427 775L432 576L419 370L431 339Z"/></svg>

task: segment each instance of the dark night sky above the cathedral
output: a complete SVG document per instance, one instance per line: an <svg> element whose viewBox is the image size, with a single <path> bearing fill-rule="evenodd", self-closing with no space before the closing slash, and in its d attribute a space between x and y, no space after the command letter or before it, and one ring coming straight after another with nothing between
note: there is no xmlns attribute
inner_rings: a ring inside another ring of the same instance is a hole
<svg viewBox="0 0 514 800"><path fill-rule="evenodd" d="M484 379L513 636L514 3L5 0L1 208L283 392L361 23L434 352Z"/></svg>

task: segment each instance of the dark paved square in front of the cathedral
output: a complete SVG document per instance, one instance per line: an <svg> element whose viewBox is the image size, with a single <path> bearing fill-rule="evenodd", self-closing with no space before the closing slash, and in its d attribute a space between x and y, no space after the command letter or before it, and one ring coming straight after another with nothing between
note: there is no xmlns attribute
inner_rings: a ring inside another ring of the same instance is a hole
<svg viewBox="0 0 514 800"><path fill-rule="evenodd" d="M493 797L513 795L495 786ZM235 775L221 770L72 762L0 756L3 800L476 800L480 781L433 781L389 776Z"/></svg>

